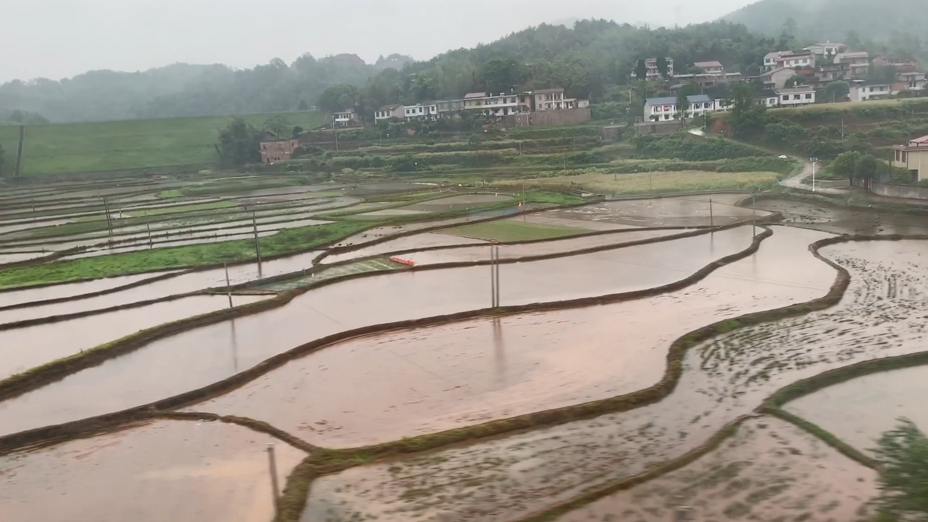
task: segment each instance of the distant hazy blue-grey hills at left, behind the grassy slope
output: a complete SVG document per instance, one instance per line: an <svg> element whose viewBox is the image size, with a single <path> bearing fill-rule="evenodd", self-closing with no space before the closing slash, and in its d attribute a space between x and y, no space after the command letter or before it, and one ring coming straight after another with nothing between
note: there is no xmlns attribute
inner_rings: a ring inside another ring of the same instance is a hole
<svg viewBox="0 0 928 522"><path fill-rule="evenodd" d="M290 65L275 58L247 70L188 64L140 72L95 70L60 82L0 85L0 114L20 110L50 121L103 121L292 110L316 105L332 85L363 86L379 70L409 61L391 55L367 65L356 55L316 59L306 54Z"/></svg>

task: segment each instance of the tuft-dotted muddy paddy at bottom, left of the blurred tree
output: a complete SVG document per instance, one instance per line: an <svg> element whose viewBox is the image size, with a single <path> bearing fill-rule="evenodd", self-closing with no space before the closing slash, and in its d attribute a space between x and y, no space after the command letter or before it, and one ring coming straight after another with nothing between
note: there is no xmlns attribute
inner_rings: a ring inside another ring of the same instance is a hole
<svg viewBox="0 0 928 522"><path fill-rule="evenodd" d="M555 520L673 520L685 504L695 520L864 521L876 475L802 429L760 417L693 464Z"/></svg>

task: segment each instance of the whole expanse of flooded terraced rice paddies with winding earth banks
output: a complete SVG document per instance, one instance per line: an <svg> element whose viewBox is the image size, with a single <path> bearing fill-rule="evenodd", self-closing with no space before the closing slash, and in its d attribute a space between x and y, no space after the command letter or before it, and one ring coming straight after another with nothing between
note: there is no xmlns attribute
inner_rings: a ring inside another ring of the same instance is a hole
<svg viewBox="0 0 928 522"><path fill-rule="evenodd" d="M818 248L833 265L809 246L928 218L744 194L512 216L509 196L434 185L237 179L101 190L121 220L150 211L200 248L253 238L251 210L259 236L342 235L233 263L227 281L220 263L0 292L0 519L270 521L268 442L280 522L650 522L677 502L698 520L871 519L875 471L756 410L801 379L924 350L928 241ZM163 251L131 221L129 242L94 243L109 230L82 228L101 224L81 221L99 215L92 185L0 190L27 213L32 198L51 212L32 224L71 228L36 237L28 215L0 214L0 263ZM774 212L794 226L750 223ZM785 409L866 450L896 416L928 423L922 374Z"/></svg>

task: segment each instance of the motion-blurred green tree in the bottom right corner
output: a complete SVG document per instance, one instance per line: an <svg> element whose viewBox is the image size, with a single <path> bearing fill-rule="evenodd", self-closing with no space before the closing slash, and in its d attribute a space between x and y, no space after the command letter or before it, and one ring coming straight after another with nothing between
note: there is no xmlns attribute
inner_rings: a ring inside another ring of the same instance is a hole
<svg viewBox="0 0 928 522"><path fill-rule="evenodd" d="M877 506L896 520L928 520L928 437L908 419L899 419L873 450L883 465Z"/></svg>

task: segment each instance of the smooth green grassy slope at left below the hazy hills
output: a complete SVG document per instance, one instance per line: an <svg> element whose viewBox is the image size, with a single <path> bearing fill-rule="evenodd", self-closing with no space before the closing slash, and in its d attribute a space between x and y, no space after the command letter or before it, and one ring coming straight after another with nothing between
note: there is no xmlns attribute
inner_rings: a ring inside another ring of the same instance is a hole
<svg viewBox="0 0 928 522"><path fill-rule="evenodd" d="M244 118L261 125L271 114ZM318 111L286 113L290 124L304 129L325 122ZM26 127L22 175L104 172L209 163L213 144L231 116L62 123ZM19 129L0 126L6 150L6 172L16 161ZM9 175L9 174L7 174Z"/></svg>

